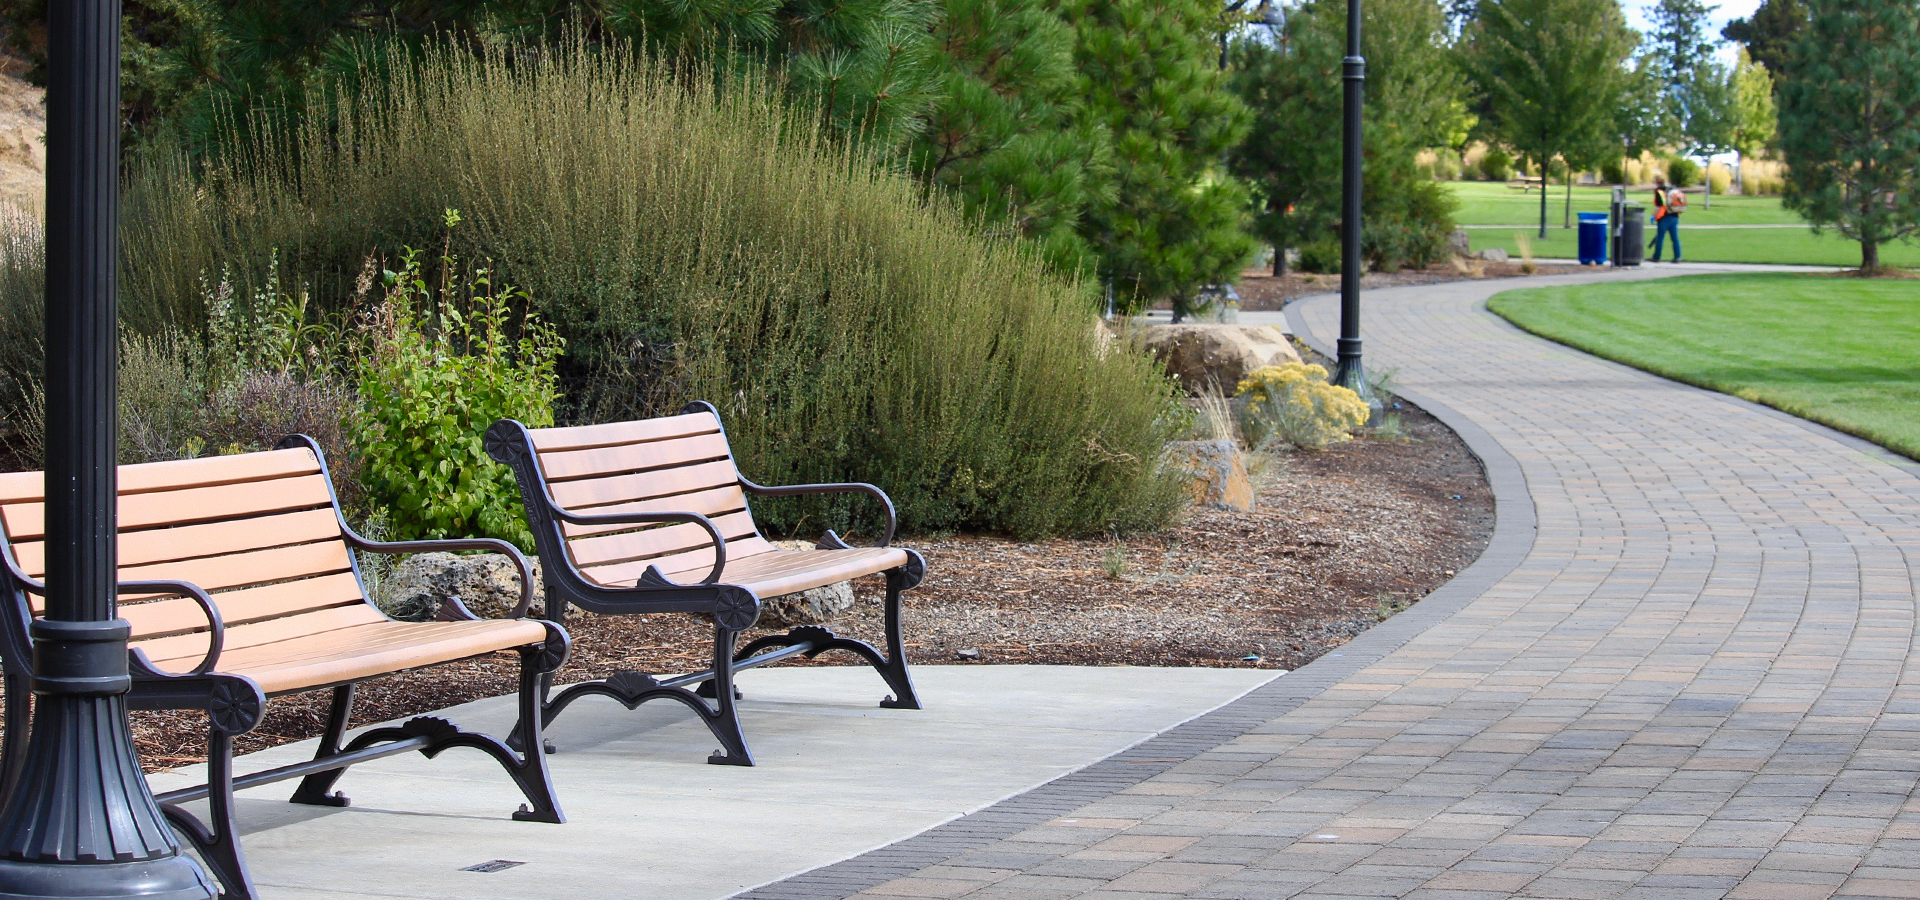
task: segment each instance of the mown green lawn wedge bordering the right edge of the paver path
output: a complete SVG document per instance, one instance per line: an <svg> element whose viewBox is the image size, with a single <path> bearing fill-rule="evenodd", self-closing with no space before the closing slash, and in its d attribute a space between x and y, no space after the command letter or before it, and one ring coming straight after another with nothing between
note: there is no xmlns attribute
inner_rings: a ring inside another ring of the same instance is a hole
<svg viewBox="0 0 1920 900"><path fill-rule="evenodd" d="M1488 307L1544 338L1920 459L1920 280L1695 274L1515 290Z"/></svg>

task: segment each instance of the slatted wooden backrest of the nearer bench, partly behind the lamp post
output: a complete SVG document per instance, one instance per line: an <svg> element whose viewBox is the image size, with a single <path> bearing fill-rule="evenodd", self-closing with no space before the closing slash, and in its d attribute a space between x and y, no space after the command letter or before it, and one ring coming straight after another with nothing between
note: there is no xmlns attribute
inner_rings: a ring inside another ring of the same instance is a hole
<svg viewBox="0 0 1920 900"><path fill-rule="evenodd" d="M42 472L0 474L0 545L31 578L46 576L44 497ZM271 622L250 629L259 637L361 620L369 604L334 503L305 447L119 466L119 580L200 585L227 628ZM19 606L44 610L42 597L21 603L12 589L8 631L25 628ZM205 652L207 618L190 597L121 597L119 616L156 660Z"/></svg>

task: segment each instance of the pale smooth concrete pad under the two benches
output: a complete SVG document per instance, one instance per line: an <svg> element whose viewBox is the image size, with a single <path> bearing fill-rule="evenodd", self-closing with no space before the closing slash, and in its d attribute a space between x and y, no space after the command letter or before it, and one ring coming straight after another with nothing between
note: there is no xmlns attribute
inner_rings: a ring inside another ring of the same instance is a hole
<svg viewBox="0 0 1920 900"><path fill-rule="evenodd" d="M507 817L520 802L490 758L447 750L357 766L346 810L240 794L242 846L269 900L718 900L895 842L1052 781L1277 677L1273 670L924 666L925 710L881 710L868 668L741 675L756 768L707 766L712 735L684 706L586 700L549 731L568 823ZM444 714L503 735L513 699ZM244 756L305 760L313 741ZM156 791L204 770L159 773ZM204 814L204 804L196 804ZM493 860L493 873L461 871Z"/></svg>

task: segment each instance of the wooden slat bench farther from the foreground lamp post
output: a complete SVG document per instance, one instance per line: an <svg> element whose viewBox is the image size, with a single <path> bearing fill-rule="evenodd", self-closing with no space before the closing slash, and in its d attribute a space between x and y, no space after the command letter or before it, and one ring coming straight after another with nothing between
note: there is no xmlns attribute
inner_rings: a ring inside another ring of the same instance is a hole
<svg viewBox="0 0 1920 900"><path fill-rule="evenodd" d="M733 466L720 414L691 403L684 414L582 428L528 430L511 418L486 432L488 453L509 464L526 501L547 610L601 614L703 612L714 622L712 666L678 677L618 672L561 691L541 704L551 723L570 702L601 695L628 708L674 699L695 710L722 750L707 762L753 766L733 700L733 674L789 656L849 651L893 689L887 708L920 708L900 639L900 591L925 576L925 560L893 541L893 501L870 484L762 487ZM783 551L760 537L747 495L866 493L887 514L876 547L851 547L828 532L812 551ZM760 614L760 599L858 576L887 580L887 652L818 626L803 626L733 649ZM697 691L695 691L697 689ZM714 700L707 704L707 697Z"/></svg>

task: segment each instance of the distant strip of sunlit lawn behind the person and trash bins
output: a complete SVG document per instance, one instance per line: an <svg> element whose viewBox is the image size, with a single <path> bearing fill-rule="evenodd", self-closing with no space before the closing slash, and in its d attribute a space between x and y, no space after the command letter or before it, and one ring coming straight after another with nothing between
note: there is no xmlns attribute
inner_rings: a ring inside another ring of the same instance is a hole
<svg viewBox="0 0 1920 900"><path fill-rule="evenodd" d="M1515 232L1534 236L1540 226L1540 194L1519 192L1498 182L1448 182L1459 198L1457 221L1465 226L1501 225L1509 228L1467 228L1473 249L1501 248L1519 255ZM1578 255L1572 228L1565 221L1565 188L1553 188L1548 198L1548 238L1534 240L1534 255L1571 259ZM1647 192L1630 196L1653 205ZM1574 213L1605 213L1605 188L1574 188ZM1651 209L1649 209L1651 215ZM1680 219L1680 244L1686 259L1695 263L1782 263L1782 265L1860 265L1860 246L1837 234L1814 236L1811 228L1715 228L1716 225L1799 225L1801 219L1780 207L1780 198L1713 198L1705 209L1693 196ZM1653 221L1647 221L1647 240L1653 240ZM1651 255L1651 253L1649 253ZM1667 249L1672 255L1672 248ZM1920 267L1920 244L1893 244L1880 249L1880 261L1899 267Z"/></svg>

